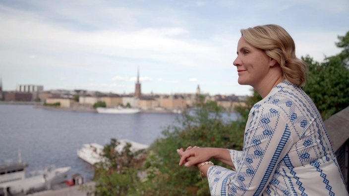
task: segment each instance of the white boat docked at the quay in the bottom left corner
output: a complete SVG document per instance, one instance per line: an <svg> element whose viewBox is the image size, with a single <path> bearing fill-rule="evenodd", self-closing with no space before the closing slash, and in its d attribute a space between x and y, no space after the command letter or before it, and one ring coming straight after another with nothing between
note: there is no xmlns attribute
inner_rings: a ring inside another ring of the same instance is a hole
<svg viewBox="0 0 349 196"><path fill-rule="evenodd" d="M3 195L50 190L53 185L64 182L70 170L70 167L49 166L27 176L27 166L22 162L0 166L0 192Z"/></svg>

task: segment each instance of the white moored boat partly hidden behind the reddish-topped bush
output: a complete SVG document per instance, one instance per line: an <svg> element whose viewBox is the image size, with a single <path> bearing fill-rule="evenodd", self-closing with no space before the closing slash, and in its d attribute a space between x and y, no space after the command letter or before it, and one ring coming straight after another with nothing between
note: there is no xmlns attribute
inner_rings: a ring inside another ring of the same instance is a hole
<svg viewBox="0 0 349 196"><path fill-rule="evenodd" d="M140 144L131 140L117 140L120 144L116 147L116 150L120 152L123 147L126 146L127 143L131 144L130 150L132 152L146 149L149 146ZM82 160L86 161L87 163L94 165L95 163L98 163L102 161L102 152L103 152L103 146L96 144L96 143L90 143L90 144L84 144L82 148L77 150L77 156L81 158Z"/></svg>

